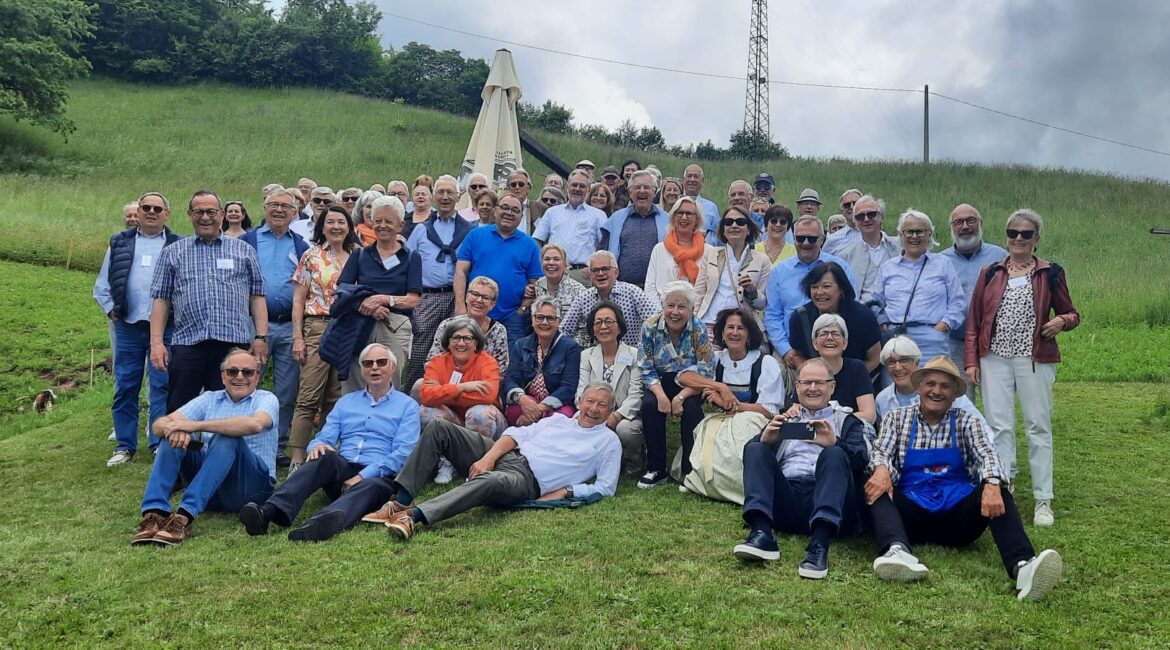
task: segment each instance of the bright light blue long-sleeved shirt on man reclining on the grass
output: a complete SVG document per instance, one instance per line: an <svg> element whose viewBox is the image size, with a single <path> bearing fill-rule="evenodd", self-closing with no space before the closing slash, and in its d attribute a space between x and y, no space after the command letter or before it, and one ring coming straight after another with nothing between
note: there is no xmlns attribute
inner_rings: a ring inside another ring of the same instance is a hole
<svg viewBox="0 0 1170 650"><path fill-rule="evenodd" d="M351 463L365 465L363 479L397 476L419 442L419 404L391 389L374 400L365 389L342 395L308 451L328 444Z"/></svg>

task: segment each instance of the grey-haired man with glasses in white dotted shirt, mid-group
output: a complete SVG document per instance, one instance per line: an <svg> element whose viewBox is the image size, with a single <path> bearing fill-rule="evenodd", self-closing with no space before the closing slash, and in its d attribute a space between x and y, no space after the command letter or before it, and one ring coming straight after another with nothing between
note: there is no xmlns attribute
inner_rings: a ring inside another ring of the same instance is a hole
<svg viewBox="0 0 1170 650"><path fill-rule="evenodd" d="M658 292L648 295L628 282L619 281L618 260L608 250L599 250L590 256L589 271L593 285L573 300L569 313L560 319L560 331L573 337L581 350L590 347L593 341L586 331L585 319L598 304L613 303L621 310L626 323L631 324L626 336L621 338L622 343L638 347L642 337L640 324L662 311Z"/></svg>

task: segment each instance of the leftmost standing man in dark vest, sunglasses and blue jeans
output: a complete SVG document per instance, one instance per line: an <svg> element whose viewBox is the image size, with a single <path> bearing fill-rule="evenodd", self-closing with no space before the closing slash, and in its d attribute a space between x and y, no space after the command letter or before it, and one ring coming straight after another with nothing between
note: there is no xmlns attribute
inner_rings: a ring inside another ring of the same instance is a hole
<svg viewBox="0 0 1170 650"><path fill-rule="evenodd" d="M138 452L138 394L143 387L143 369L149 367L150 410L146 431L150 449L158 447L151 427L166 415L167 374L149 366L151 278L163 248L179 236L166 227L171 202L158 192L138 199L137 227L110 237L102 270L94 283L94 299L113 326L113 433L118 444L105 466L129 463ZM170 345L170 327L164 336Z"/></svg>

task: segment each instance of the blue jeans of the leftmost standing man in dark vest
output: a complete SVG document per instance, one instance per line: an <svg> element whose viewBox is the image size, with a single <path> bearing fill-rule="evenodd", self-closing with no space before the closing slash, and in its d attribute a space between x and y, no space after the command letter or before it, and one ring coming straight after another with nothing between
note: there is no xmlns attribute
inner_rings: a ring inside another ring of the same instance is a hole
<svg viewBox="0 0 1170 650"><path fill-rule="evenodd" d="M143 371L150 378L150 413L146 435L150 448L158 447L151 430L154 420L166 415L167 374L150 365L150 323L113 320L113 431L118 436L118 451L138 451L138 395L143 389ZM171 345L171 330L163 336Z"/></svg>

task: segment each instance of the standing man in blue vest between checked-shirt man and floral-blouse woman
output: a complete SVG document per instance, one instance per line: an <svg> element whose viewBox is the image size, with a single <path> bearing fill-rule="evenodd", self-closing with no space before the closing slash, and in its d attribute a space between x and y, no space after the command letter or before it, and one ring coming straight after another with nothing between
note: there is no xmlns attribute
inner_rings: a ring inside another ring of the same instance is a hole
<svg viewBox="0 0 1170 650"><path fill-rule="evenodd" d="M301 366L292 359L292 274L309 244L289 230L296 216L296 198L288 189L274 189L264 200L264 222L245 233L240 241L256 249L264 276L268 304L268 362L273 367L273 393L281 404L276 464L288 466L284 447L289 442L292 407L296 406ZM319 216L318 216L319 219Z"/></svg>

